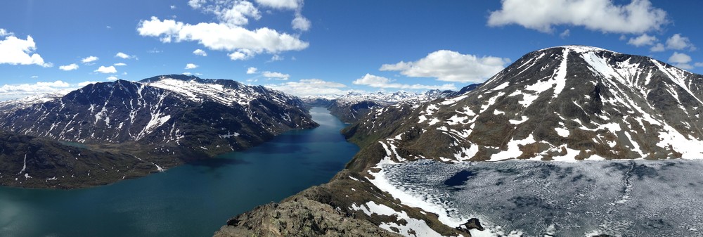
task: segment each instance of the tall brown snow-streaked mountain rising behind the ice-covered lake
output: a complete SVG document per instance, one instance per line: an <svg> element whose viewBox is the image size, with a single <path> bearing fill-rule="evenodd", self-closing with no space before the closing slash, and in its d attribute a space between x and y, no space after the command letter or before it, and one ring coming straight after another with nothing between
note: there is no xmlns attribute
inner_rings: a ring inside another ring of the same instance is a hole
<svg viewBox="0 0 703 237"><path fill-rule="evenodd" d="M349 131L386 137L393 160L703 158L702 83L645 56L561 46L462 96L375 110Z"/></svg>

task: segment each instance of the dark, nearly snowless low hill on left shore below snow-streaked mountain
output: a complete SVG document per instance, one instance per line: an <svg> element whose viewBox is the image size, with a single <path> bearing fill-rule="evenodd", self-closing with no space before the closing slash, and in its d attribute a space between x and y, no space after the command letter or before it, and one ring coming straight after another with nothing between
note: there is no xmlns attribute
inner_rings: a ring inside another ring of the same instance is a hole
<svg viewBox="0 0 703 237"><path fill-rule="evenodd" d="M162 167L126 153L0 131L0 185L85 188L142 177Z"/></svg>

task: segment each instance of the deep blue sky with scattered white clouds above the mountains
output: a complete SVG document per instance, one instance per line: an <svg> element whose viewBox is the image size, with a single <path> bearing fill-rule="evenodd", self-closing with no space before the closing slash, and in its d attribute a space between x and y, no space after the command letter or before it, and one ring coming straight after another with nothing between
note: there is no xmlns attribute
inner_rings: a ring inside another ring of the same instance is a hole
<svg viewBox="0 0 703 237"><path fill-rule="evenodd" d="M703 72L702 1L27 0L3 9L0 100L181 73L300 96L460 89L567 44Z"/></svg>

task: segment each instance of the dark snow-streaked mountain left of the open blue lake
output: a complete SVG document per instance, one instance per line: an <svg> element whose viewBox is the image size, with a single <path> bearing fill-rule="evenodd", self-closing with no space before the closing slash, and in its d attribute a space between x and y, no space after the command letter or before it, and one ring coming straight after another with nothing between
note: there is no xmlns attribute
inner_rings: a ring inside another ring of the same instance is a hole
<svg viewBox="0 0 703 237"><path fill-rule="evenodd" d="M0 127L10 134L128 153L161 167L317 126L295 96L186 75L89 84L64 96L23 102L0 110Z"/></svg>

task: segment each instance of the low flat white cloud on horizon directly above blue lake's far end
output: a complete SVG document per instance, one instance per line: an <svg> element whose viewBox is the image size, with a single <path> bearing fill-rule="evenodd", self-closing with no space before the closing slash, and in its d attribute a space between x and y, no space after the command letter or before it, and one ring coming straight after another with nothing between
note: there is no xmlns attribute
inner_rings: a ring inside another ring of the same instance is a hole
<svg viewBox="0 0 703 237"><path fill-rule="evenodd" d="M255 81L254 81L255 82ZM344 90L347 85L339 82L327 82L322 79L301 79L298 82L285 82L282 84L268 84L266 87L283 91L295 96L318 96L347 94Z"/></svg>

